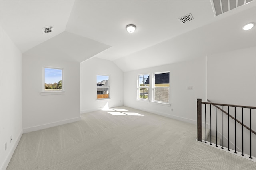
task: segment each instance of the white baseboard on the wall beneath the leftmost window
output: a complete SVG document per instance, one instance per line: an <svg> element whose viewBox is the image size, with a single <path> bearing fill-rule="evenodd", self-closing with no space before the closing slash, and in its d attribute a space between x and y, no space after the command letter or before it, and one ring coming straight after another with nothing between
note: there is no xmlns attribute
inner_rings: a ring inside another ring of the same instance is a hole
<svg viewBox="0 0 256 170"><path fill-rule="evenodd" d="M54 127L54 126L58 126L58 125L64 125L64 124L67 124L67 123L72 123L72 122L76 122L76 121L80 121L80 120L81 120L81 117L76 117L76 118L67 119L67 120L63 120L63 121L52 122L52 123L48 123L48 124L44 124L44 125L28 127L28 128L23 129L23 133L38 131L38 130L41 130L41 129L46 129L46 128Z"/></svg>

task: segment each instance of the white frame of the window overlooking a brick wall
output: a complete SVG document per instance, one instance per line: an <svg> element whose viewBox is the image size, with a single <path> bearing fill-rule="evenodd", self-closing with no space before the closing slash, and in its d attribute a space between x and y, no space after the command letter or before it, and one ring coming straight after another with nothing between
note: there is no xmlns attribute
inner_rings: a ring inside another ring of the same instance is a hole
<svg viewBox="0 0 256 170"><path fill-rule="evenodd" d="M169 86L161 86L161 87L157 87L155 86L155 75L156 74L162 74L162 73L169 73ZM152 102L156 103L156 104L162 104L162 105L166 105L166 106L170 106L170 71L163 71L163 72L154 72L153 73L153 77L152 77ZM155 100L155 89L161 89L161 88L166 88L168 89L168 102L163 102L163 101L158 101Z"/></svg>

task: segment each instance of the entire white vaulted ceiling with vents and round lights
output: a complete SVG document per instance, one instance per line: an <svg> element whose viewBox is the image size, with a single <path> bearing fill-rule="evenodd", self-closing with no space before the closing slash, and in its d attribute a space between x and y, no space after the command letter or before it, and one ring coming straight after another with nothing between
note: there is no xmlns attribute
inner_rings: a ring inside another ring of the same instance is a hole
<svg viewBox="0 0 256 170"><path fill-rule="evenodd" d="M256 28L242 31L244 24L256 22L255 0L218 16L210 0L0 3L1 27L22 53L42 45L78 62L112 60L123 71L256 46ZM181 24L178 18L189 13L194 20ZM137 26L134 33L125 30L131 23ZM53 32L43 35L48 26Z"/></svg>

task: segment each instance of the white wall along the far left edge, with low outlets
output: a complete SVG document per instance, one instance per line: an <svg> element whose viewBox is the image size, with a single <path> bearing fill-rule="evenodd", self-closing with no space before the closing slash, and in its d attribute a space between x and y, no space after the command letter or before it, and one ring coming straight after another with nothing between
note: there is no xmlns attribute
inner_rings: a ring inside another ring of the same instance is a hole
<svg viewBox="0 0 256 170"><path fill-rule="evenodd" d="M5 169L22 135L21 53L1 27L0 165ZM10 136L12 141L10 142ZM7 143L7 150L5 150Z"/></svg>

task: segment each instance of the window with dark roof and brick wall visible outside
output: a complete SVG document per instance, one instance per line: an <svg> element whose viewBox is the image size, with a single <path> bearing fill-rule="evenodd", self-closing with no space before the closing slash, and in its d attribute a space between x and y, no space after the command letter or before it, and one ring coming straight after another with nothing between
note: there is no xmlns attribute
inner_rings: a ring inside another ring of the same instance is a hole
<svg viewBox="0 0 256 170"><path fill-rule="evenodd" d="M153 96L155 102L169 103L169 72L154 73Z"/></svg>

